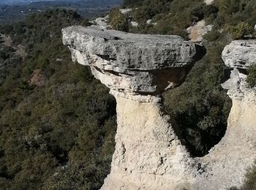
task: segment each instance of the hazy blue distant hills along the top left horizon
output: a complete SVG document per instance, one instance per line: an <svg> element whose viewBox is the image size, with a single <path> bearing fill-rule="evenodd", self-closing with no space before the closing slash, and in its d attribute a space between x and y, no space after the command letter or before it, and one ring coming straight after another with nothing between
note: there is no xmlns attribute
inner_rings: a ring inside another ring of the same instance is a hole
<svg viewBox="0 0 256 190"><path fill-rule="evenodd" d="M72 9L86 18L99 15L116 7L123 0L1 0L0 23L21 20L31 12L41 12L49 8Z"/></svg>

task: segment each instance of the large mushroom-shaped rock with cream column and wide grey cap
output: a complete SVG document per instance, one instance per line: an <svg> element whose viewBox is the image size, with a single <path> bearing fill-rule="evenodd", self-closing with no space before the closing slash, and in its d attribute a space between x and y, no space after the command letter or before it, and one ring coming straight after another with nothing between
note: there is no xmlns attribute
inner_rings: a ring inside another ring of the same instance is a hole
<svg viewBox="0 0 256 190"><path fill-rule="evenodd" d="M63 30L73 61L116 97L116 151L102 189L178 189L195 181L195 162L181 145L162 92L180 85L201 47L178 36L128 34L95 27Z"/></svg>

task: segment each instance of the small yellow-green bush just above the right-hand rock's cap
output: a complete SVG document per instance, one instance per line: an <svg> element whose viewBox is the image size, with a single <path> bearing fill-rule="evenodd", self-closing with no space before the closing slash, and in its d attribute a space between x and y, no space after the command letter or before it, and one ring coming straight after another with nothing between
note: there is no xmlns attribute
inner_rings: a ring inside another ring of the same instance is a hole
<svg viewBox="0 0 256 190"><path fill-rule="evenodd" d="M230 27L228 30L231 32L233 39L244 39L255 31L253 26L244 22L238 23L237 26Z"/></svg>

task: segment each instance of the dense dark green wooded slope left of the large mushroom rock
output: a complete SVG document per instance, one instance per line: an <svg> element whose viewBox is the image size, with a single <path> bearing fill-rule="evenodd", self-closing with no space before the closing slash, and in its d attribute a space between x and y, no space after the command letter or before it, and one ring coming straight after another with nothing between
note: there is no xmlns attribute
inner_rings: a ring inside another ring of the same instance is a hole
<svg viewBox="0 0 256 190"><path fill-rule="evenodd" d="M13 40L0 47L0 189L99 189L109 173L116 102L62 45L77 24L56 9L0 27Z"/></svg>

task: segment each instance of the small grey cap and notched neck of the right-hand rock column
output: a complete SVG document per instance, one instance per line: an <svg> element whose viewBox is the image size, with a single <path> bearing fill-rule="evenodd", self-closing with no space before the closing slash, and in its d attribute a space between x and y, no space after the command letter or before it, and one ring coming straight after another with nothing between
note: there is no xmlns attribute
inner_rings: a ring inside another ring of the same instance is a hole
<svg viewBox="0 0 256 190"><path fill-rule="evenodd" d="M254 99L255 88L248 88L246 77L250 66L256 64L256 39L235 40L222 51L225 65L230 67L222 88L231 99Z"/></svg>

